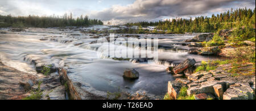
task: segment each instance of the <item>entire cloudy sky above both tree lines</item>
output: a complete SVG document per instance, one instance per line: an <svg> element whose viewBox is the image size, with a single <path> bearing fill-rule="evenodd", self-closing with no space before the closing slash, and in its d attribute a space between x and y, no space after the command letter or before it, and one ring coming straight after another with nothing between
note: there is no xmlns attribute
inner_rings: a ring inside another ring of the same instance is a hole
<svg viewBox="0 0 256 111"><path fill-rule="evenodd" d="M255 0L0 0L1 15L89 15L115 24L210 16L230 8L255 8Z"/></svg>

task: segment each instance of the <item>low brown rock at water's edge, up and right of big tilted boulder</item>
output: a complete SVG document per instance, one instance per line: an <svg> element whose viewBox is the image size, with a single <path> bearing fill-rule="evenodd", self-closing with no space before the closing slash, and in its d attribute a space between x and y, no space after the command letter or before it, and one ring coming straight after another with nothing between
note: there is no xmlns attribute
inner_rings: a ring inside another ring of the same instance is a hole
<svg viewBox="0 0 256 111"><path fill-rule="evenodd" d="M205 48L201 48L200 50L201 52L199 54L203 56L217 55L220 52L220 49L218 48L218 46L205 47Z"/></svg>

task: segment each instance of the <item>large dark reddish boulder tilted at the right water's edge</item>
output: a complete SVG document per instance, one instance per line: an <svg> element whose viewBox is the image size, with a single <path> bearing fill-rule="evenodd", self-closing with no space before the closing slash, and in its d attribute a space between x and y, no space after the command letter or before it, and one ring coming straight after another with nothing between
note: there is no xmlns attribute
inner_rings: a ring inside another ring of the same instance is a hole
<svg viewBox="0 0 256 111"><path fill-rule="evenodd" d="M175 74L179 74L180 72L185 71L189 67L193 67L195 64L196 64L195 59L187 59L187 60L183 61L182 63L180 63L179 65L177 65L176 67L174 67L174 69L172 69L172 71Z"/></svg>

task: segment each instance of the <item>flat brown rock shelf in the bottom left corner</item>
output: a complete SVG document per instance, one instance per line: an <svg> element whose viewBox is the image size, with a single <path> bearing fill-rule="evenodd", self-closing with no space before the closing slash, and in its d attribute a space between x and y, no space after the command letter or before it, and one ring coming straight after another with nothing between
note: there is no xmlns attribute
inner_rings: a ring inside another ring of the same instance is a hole
<svg viewBox="0 0 256 111"><path fill-rule="evenodd" d="M36 82L36 76L18 71L0 62L0 100L23 99Z"/></svg>

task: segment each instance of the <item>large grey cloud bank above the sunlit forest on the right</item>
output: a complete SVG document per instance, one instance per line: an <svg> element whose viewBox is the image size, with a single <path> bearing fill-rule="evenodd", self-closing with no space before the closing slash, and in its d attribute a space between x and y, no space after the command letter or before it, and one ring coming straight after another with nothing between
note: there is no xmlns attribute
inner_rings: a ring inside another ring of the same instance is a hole
<svg viewBox="0 0 256 111"><path fill-rule="evenodd" d="M163 16L205 15L209 12L226 11L231 7L255 7L254 0L137 0L131 5L113 5L90 14L92 18L112 21L116 24L159 20Z"/></svg>

